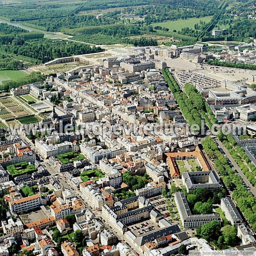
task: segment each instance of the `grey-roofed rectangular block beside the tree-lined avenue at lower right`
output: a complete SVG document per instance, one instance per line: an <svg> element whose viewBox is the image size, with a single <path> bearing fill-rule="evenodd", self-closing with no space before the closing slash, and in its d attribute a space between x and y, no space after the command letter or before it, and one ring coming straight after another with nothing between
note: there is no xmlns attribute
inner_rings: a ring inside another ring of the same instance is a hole
<svg viewBox="0 0 256 256"><path fill-rule="evenodd" d="M237 227L239 224L244 222L231 198L221 198L221 209L227 220L230 221L233 226Z"/></svg>

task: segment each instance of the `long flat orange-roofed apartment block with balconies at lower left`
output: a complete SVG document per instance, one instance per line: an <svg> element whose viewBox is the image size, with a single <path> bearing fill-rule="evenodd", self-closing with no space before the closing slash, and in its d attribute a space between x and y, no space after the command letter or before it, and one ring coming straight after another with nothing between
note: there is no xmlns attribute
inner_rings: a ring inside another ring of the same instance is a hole
<svg viewBox="0 0 256 256"><path fill-rule="evenodd" d="M26 198L17 199L9 202L9 208L12 213L25 212L42 205L42 198L40 194L28 196Z"/></svg>

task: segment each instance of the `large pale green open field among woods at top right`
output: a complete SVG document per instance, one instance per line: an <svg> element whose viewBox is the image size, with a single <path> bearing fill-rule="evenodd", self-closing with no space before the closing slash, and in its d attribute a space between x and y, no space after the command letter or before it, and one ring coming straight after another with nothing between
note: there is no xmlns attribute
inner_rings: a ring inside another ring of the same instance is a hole
<svg viewBox="0 0 256 256"><path fill-rule="evenodd" d="M180 30L182 28L185 27L189 27L190 29L194 28L194 25L196 23L200 23L200 20L208 23L210 22L212 16L207 16L207 17L203 17L203 18L191 18L191 19L187 19L187 20L169 20L166 22L159 22L159 23L152 23L151 25L154 26L161 26L161 27L165 27L168 28L170 32L172 32L174 29L175 30Z"/></svg>

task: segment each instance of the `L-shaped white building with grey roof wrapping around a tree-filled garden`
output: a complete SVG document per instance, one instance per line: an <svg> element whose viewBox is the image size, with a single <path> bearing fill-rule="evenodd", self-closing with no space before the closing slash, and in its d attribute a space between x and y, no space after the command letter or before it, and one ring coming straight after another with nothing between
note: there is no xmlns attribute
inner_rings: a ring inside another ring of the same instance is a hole
<svg viewBox="0 0 256 256"><path fill-rule="evenodd" d="M221 218L217 213L192 215L183 192L175 192L174 199L184 228L201 227L211 221L221 222Z"/></svg>

